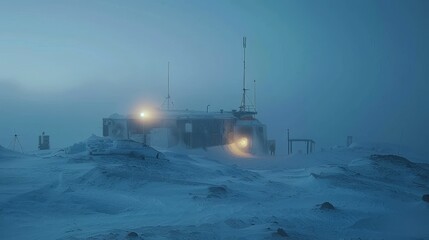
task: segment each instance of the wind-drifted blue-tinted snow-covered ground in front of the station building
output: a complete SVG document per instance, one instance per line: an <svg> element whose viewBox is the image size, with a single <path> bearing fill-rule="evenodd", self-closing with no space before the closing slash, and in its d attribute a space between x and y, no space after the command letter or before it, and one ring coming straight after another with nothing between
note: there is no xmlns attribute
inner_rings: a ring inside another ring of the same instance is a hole
<svg viewBox="0 0 429 240"><path fill-rule="evenodd" d="M429 165L410 153L163 153L0 147L0 239L429 239Z"/></svg>

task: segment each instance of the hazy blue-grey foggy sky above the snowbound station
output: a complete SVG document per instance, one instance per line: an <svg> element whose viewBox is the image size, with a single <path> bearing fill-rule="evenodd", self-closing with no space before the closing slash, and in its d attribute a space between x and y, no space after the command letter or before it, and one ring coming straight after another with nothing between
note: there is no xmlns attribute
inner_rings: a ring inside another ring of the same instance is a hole
<svg viewBox="0 0 429 240"><path fill-rule="evenodd" d="M426 151L428 1L1 1L0 145L52 147L167 95L237 109L247 84L268 137Z"/></svg>

